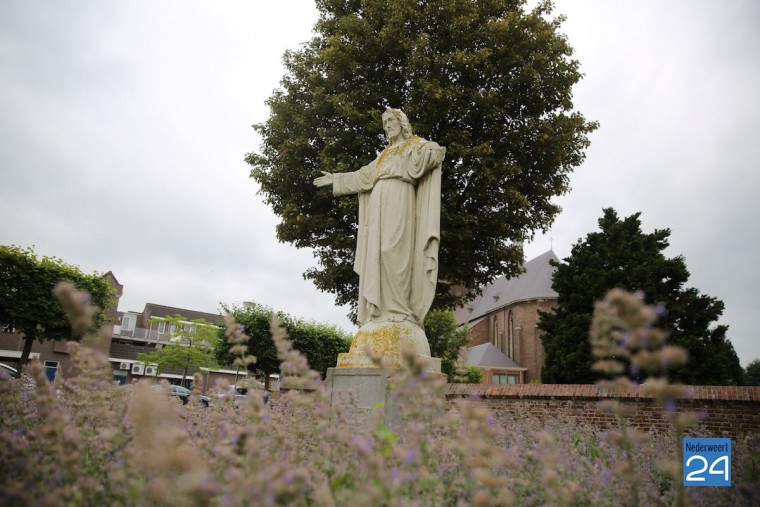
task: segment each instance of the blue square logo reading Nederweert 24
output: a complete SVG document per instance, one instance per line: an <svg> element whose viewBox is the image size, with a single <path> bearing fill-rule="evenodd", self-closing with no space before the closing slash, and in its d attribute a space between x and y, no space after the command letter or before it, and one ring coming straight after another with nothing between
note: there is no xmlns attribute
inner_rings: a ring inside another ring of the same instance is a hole
<svg viewBox="0 0 760 507"><path fill-rule="evenodd" d="M683 485L730 486L731 439L684 438Z"/></svg>

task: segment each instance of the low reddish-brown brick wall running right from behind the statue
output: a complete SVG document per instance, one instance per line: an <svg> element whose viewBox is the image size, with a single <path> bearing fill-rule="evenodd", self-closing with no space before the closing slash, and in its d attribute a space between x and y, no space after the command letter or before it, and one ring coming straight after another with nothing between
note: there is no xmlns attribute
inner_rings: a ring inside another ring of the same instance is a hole
<svg viewBox="0 0 760 507"><path fill-rule="evenodd" d="M760 387L695 386L688 390L690 396L677 400L676 406L679 411L703 415L701 436L760 434ZM634 409L631 426L643 431L669 430L662 407L640 389L612 397L594 385L449 384L446 397L449 402L463 397L475 398L501 420L520 417L527 411L540 419L586 423L600 429L617 427L618 419L602 413L597 408L598 402L617 398Z"/></svg>

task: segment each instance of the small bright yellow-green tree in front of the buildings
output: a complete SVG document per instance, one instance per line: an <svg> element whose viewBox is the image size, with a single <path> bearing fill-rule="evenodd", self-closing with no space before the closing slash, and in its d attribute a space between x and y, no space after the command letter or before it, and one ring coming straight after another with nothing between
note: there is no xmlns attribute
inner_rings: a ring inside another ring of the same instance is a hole
<svg viewBox="0 0 760 507"><path fill-rule="evenodd" d="M139 354L138 359L146 364L157 364L161 372L167 366L182 368L182 382L187 378L190 368L216 366L217 342L219 330L206 319L188 320L182 315L174 317L155 317L151 323L166 322L174 332L170 343L163 348L147 354Z"/></svg>

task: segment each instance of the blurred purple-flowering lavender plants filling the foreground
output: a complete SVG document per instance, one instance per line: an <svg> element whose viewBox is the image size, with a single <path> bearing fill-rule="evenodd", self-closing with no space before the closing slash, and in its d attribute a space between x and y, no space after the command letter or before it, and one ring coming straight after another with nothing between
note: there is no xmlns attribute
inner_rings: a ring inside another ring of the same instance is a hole
<svg viewBox="0 0 760 507"><path fill-rule="evenodd" d="M92 313L72 287L59 297L72 315ZM661 373L683 360L654 328L656 313L622 293L597 308L598 367L619 375L607 387L632 386L621 375L628 365ZM81 329L89 329L86 318ZM72 371L57 390L38 363L22 379L0 376L0 505L750 505L758 498L757 435L734 443L734 488L679 491L678 431L694 419L676 410L671 401L682 392L664 380L646 388L676 431L634 432L623 407L608 404L621 429L601 433L530 410L507 415L487 400L447 404L445 378L406 355L392 379L404 400L400 425L386 425L380 412L357 424L352 399L330 395L277 323L272 334L284 390L270 403L235 400L224 382L212 388L208 408L198 392L182 405L144 382L117 387L107 358L87 345L96 335L71 345ZM242 346L245 330L231 321L227 339L237 364L255 361ZM195 389L201 385L196 378Z"/></svg>

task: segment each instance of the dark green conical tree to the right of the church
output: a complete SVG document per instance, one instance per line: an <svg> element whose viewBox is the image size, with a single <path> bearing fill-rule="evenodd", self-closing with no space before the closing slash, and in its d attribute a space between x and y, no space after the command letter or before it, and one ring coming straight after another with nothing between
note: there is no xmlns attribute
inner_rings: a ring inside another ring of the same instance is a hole
<svg viewBox="0 0 760 507"><path fill-rule="evenodd" d="M741 384L743 370L727 326L713 325L723 313L723 302L684 287L689 278L682 256L667 258L669 229L641 231L640 213L618 218L608 208L599 219L599 232L575 244L570 257L557 268L553 288L558 293L552 312L541 313L539 328L546 361L541 380L546 383L591 383L597 379L589 327L594 303L613 288L644 293L647 304L659 305L658 325L669 341L689 352L685 367L671 371L675 380L693 385ZM631 371L634 376L637 372Z"/></svg>

